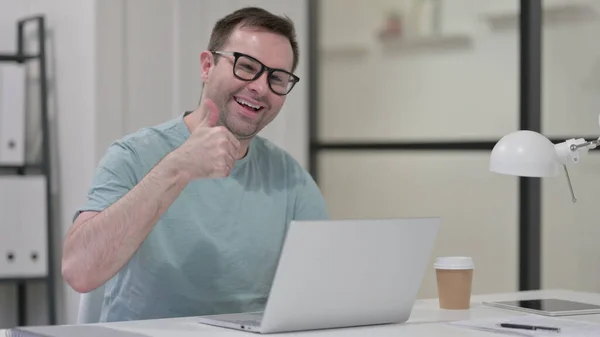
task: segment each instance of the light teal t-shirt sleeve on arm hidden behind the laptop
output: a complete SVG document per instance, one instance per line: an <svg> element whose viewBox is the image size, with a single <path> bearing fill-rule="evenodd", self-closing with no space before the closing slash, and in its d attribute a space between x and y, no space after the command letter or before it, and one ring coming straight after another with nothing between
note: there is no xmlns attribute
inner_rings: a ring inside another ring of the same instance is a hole
<svg viewBox="0 0 600 337"><path fill-rule="evenodd" d="M328 220L325 198L314 179L304 172L304 183L298 189L294 220Z"/></svg>

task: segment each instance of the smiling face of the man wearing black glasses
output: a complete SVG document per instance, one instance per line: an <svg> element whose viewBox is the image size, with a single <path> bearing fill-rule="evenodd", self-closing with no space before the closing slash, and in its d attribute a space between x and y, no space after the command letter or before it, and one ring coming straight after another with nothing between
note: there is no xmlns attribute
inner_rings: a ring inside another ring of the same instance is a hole
<svg viewBox="0 0 600 337"><path fill-rule="evenodd" d="M243 53L267 67L292 71L292 47L286 37L278 34L251 27L238 28L220 51ZM219 107L219 124L227 127L238 139L249 139L277 116L286 96L271 90L266 70L254 81L237 78L233 72L234 62L232 54L202 54L205 98L212 99ZM240 71L250 71L256 65L242 64L240 60L236 70L241 74Z"/></svg>

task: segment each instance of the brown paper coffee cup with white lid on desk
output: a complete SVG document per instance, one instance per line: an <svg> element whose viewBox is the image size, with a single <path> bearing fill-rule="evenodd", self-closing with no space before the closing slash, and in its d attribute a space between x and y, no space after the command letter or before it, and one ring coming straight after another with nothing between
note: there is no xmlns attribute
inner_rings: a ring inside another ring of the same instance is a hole
<svg viewBox="0 0 600 337"><path fill-rule="evenodd" d="M473 284L473 259L466 256L438 257L435 261L440 308L470 308Z"/></svg>

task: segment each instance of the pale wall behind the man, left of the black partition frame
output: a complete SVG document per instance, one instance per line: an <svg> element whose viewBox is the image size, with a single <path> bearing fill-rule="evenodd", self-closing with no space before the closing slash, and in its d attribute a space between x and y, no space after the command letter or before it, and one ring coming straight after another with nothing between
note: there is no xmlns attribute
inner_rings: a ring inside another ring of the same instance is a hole
<svg viewBox="0 0 600 337"><path fill-rule="evenodd" d="M14 51L20 17L44 14L48 21L58 240L85 201L95 165L113 140L196 107L200 51L215 21L243 5L285 13L296 22L302 54L298 74L304 81L263 135L306 165L305 1L0 0L2 52ZM56 248L59 323L73 323L79 295L60 278L60 242ZM43 295L33 287L31 324L46 322ZM0 328L16 324L15 301L14 289L0 283Z"/></svg>

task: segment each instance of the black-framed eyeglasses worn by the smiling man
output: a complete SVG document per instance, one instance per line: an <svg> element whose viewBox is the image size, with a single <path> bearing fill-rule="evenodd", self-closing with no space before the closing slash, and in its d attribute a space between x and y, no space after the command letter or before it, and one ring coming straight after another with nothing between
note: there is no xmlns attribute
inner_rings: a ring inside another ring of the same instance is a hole
<svg viewBox="0 0 600 337"><path fill-rule="evenodd" d="M266 70L269 88L280 96L287 95L292 91L296 83L300 81L298 76L283 69L267 67L250 55L229 51L212 51L212 53L218 55L232 55L235 58L233 61L233 75L242 81L254 81Z"/></svg>

